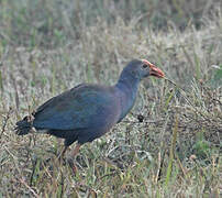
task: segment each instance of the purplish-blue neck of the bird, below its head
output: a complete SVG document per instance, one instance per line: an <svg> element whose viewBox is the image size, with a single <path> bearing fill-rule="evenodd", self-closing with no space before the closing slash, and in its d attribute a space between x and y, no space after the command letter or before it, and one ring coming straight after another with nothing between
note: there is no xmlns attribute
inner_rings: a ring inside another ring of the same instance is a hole
<svg viewBox="0 0 222 198"><path fill-rule="evenodd" d="M120 103L122 109L119 122L132 109L135 102L138 84L140 84L138 79L129 78L127 76L126 78L121 77L118 84L115 85L115 88L118 89L118 92L119 92L119 98L120 98Z"/></svg>

